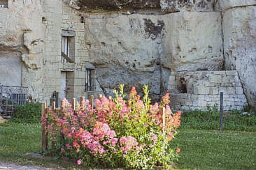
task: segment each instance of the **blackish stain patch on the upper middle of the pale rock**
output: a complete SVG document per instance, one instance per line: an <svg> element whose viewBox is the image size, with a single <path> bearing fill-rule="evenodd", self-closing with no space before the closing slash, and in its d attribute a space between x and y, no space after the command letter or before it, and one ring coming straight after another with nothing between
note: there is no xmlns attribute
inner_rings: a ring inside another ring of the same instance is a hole
<svg viewBox="0 0 256 170"><path fill-rule="evenodd" d="M155 40L159 34L162 33L164 29L164 22L157 20L157 24L153 23L150 19L143 19L145 22L145 35L146 38L151 38Z"/></svg>

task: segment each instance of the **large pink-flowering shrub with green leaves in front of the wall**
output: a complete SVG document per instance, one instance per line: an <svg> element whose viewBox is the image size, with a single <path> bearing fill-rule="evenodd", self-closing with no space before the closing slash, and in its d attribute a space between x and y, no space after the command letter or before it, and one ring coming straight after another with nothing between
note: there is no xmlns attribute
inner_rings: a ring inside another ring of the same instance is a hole
<svg viewBox="0 0 256 170"><path fill-rule="evenodd" d="M49 111L50 152L90 166L152 168L171 164L180 152L170 147L180 125L180 111L172 113L168 93L160 105L150 105L148 86L143 90L142 100L134 87L124 100L120 85L113 100L103 96L95 100L94 108L85 100L74 110L64 100L61 113ZM161 107L165 108L165 122Z"/></svg>

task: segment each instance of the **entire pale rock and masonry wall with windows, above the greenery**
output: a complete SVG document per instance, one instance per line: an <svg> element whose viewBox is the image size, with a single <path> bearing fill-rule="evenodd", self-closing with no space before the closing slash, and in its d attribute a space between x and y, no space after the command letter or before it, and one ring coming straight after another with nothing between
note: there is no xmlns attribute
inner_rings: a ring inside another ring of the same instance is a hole
<svg viewBox="0 0 256 170"><path fill-rule="evenodd" d="M148 84L154 100L166 91L178 96L173 104L179 109L204 109L203 101L213 104L221 90L229 95L226 109L246 105L242 93L256 106L253 0L2 0L0 5L1 84L29 86L35 100L50 100L53 91L69 99L112 95L118 84L127 92L136 86L141 94ZM65 47L72 62L65 61ZM9 78L15 81L6 82Z"/></svg>

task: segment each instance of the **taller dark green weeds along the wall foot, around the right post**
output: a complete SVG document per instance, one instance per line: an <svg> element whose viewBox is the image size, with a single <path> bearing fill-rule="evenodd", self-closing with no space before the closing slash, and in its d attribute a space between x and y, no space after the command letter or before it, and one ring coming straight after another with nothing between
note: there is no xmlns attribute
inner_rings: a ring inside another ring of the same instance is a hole
<svg viewBox="0 0 256 170"><path fill-rule="evenodd" d="M220 111L216 106L207 111L187 111L181 115L181 127L201 130L218 130L220 127ZM223 112L222 130L244 130L256 132L256 114L243 114L241 111Z"/></svg>

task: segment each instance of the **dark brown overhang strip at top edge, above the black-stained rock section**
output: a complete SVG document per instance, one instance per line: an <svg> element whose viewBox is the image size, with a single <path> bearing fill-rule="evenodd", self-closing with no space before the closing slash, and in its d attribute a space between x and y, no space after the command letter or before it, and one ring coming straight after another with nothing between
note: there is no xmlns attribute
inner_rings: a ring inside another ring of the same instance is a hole
<svg viewBox="0 0 256 170"><path fill-rule="evenodd" d="M85 11L161 8L160 0L79 0L78 6Z"/></svg>

